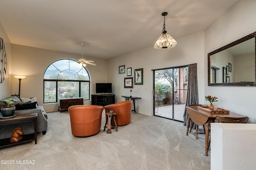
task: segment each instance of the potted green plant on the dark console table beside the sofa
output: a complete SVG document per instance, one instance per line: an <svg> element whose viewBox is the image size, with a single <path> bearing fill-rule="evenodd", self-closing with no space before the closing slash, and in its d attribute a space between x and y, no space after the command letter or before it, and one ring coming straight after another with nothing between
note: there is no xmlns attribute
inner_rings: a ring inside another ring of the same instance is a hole
<svg viewBox="0 0 256 170"><path fill-rule="evenodd" d="M15 105L19 102L11 102L13 98L10 98L7 102L0 100L1 113L3 117L10 117L14 115Z"/></svg>

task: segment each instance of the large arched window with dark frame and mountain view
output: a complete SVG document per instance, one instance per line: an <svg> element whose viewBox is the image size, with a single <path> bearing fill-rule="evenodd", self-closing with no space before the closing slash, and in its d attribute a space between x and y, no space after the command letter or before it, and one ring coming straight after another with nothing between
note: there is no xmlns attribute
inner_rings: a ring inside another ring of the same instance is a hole
<svg viewBox="0 0 256 170"><path fill-rule="evenodd" d="M44 103L58 102L60 98L71 97L90 99L89 73L76 61L55 61L44 72Z"/></svg>

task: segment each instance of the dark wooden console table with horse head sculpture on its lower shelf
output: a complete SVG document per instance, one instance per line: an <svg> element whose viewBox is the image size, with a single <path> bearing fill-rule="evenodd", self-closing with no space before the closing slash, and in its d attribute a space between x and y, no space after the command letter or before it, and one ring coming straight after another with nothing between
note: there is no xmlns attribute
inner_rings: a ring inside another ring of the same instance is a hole
<svg viewBox="0 0 256 170"><path fill-rule="evenodd" d="M6 147L6 146L12 146L17 145L20 143L26 143L29 141L35 141L36 145L36 139L37 139L37 113L28 113L28 114L21 114L16 115L15 117L10 118L1 118L0 119L0 126L4 125L11 125L16 123L25 123L25 122L33 122L34 123L34 133L22 135L23 139L18 142L10 142L10 138L1 139L0 140L0 148ZM13 126L15 129L16 127ZM10 134L11 137L12 134Z"/></svg>

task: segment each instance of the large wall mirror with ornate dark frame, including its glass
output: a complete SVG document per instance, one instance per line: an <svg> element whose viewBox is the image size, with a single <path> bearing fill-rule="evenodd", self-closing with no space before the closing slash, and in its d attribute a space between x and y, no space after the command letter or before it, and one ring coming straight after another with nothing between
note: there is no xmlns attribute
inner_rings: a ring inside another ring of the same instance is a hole
<svg viewBox="0 0 256 170"><path fill-rule="evenodd" d="M208 53L208 86L256 86L256 32Z"/></svg>

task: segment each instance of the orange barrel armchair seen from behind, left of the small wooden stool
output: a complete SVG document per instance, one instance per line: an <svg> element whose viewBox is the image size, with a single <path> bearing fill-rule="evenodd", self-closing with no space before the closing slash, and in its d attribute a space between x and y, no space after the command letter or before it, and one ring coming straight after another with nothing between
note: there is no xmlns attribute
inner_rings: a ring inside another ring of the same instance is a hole
<svg viewBox="0 0 256 170"><path fill-rule="evenodd" d="M103 106L79 105L68 107L72 135L86 137L100 131Z"/></svg>

